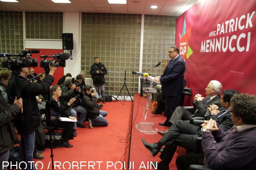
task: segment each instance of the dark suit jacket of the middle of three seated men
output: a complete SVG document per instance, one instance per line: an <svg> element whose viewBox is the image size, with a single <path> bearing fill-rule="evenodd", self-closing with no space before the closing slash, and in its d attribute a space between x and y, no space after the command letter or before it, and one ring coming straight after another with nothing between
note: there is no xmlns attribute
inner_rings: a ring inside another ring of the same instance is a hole
<svg viewBox="0 0 256 170"><path fill-rule="evenodd" d="M225 112L225 110L226 109L224 107L221 107L219 109L220 114L222 112ZM212 120L215 120L216 122L218 122L220 129L222 129L224 132L228 131L234 126L234 123L232 122L232 119L231 119L230 112L220 116L219 118L217 117L217 115L209 115L205 117L206 120L210 120L211 118Z"/></svg>

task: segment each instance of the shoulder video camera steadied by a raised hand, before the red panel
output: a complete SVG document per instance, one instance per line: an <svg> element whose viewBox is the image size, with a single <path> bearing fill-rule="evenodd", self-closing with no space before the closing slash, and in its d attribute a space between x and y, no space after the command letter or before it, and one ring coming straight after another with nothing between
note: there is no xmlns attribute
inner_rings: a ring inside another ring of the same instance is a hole
<svg viewBox="0 0 256 170"><path fill-rule="evenodd" d="M52 60L46 60L46 58L48 57L52 57ZM68 52L58 53L58 55L53 54L52 56L40 55L40 58L44 58L44 60L40 61L40 67L49 69L49 63L51 66L54 66L54 67L66 67L66 60L68 60L69 57L70 57L70 53ZM55 61L55 63L53 61Z"/></svg>

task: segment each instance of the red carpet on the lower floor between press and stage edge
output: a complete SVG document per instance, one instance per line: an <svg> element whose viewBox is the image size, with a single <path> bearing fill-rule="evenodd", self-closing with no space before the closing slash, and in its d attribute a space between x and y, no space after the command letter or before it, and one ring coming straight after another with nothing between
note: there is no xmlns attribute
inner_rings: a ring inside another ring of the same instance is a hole
<svg viewBox="0 0 256 170"><path fill-rule="evenodd" d="M106 116L109 123L108 126L90 129L88 122L84 122L86 128L77 128L77 137L69 141L70 144L74 145L72 148L61 147L53 149L53 160L55 162L59 161L56 162L56 165L61 164L59 167L56 166L55 169L120 169L122 167L120 161L125 161L126 163L128 161L129 148L126 149L127 153L125 154L125 148L128 144L122 143L124 140L122 142L119 140L125 139L129 133L131 109L132 101L125 101L124 105L123 101L103 104L102 110L108 112ZM50 157L51 149L46 148L42 154L44 159L35 159L35 161L43 163L43 170L52 169L52 162L50 162L52 161ZM111 166L111 162L113 162L113 166ZM69 167L69 163L71 167ZM72 167L72 163L74 165L78 163L78 167ZM42 164L38 164L38 168L41 169ZM84 166L80 167L80 165ZM94 168L92 166L88 167L88 165L94 165ZM109 165L108 168L107 165Z"/></svg>

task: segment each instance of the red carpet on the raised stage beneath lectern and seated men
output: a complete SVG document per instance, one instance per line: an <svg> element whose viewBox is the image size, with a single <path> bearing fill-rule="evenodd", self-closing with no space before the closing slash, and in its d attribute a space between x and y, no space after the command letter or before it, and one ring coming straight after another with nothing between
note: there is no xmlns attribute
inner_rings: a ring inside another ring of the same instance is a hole
<svg viewBox="0 0 256 170"><path fill-rule="evenodd" d="M131 151L130 151L130 161L134 162L134 169L155 169L150 167L150 161L160 162L159 158L160 153L153 157L150 152L145 148L145 146L141 142L141 138L144 138L147 143L155 143L161 139L162 136L156 135L148 135L139 132L135 125L140 122L141 117L143 116L145 101L147 98L140 97L140 94L134 95L134 107L133 107L133 126L132 126L132 139L131 139ZM138 113L137 113L138 110ZM137 118L135 119L137 115ZM166 117L163 115L153 115L151 113L151 108L149 108L146 122L153 122L155 125L153 129L158 129L160 131L165 131L168 127L158 125L158 122L164 122ZM169 164L170 170L177 170L175 165L176 158L181 155L186 154L186 150L182 147L178 147L171 164ZM149 163L148 163L149 162ZM145 166L144 166L145 165ZM145 168L146 167L146 168ZM132 168L131 168L132 169Z"/></svg>

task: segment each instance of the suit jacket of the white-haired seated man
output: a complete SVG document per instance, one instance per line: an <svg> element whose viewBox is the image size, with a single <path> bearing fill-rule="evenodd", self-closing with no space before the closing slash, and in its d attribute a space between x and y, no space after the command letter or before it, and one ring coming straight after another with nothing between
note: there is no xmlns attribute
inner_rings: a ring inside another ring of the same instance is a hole
<svg viewBox="0 0 256 170"><path fill-rule="evenodd" d="M212 100L208 101L205 105L204 105L204 101L209 99L209 96L206 96L204 98L204 100L201 101L197 101L197 102L192 102L192 104L197 107L198 112L196 113L196 115L194 117L204 117L205 113L207 112L207 107L209 107L212 104L215 104L219 107L221 107L221 103L220 103L220 95L215 96Z"/></svg>

